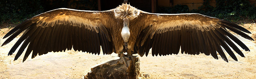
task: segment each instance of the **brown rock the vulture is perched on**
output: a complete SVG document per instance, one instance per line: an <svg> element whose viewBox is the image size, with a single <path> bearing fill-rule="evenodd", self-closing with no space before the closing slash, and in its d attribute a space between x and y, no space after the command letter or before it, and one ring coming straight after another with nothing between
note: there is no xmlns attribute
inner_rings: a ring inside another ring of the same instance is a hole
<svg viewBox="0 0 256 79"><path fill-rule="evenodd" d="M135 64L131 60L124 61L111 60L91 68L84 79L136 79L140 75L140 61L138 57L133 57Z"/></svg>

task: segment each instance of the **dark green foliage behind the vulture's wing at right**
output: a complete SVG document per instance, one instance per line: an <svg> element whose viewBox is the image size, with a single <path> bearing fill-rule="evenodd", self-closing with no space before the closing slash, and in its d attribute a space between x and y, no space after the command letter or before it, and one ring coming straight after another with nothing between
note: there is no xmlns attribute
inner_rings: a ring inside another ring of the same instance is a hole
<svg viewBox="0 0 256 79"><path fill-rule="evenodd" d="M175 5L174 7L165 7L159 10L162 10L162 13L200 13L229 21L243 20L245 18L256 20L256 7L254 4L250 4L248 0L216 0L216 7L209 5L209 1L211 0L204 0L203 5L198 7L197 10L187 11L187 5L178 5L180 7Z"/></svg>

